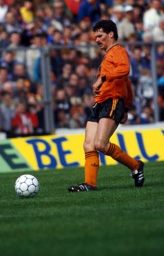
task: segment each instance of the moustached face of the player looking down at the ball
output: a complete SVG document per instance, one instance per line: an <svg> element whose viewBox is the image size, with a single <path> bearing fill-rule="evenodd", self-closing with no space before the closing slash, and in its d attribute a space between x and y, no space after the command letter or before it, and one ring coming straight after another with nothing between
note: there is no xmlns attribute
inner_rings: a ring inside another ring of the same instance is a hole
<svg viewBox="0 0 164 256"><path fill-rule="evenodd" d="M99 45L99 47L102 50L105 50L105 51L108 50L108 47L110 46L110 43L111 43L111 38L113 37L111 33L113 32L106 34L105 32L103 32L102 29L99 29L94 33L95 42L97 43L97 45Z"/></svg>

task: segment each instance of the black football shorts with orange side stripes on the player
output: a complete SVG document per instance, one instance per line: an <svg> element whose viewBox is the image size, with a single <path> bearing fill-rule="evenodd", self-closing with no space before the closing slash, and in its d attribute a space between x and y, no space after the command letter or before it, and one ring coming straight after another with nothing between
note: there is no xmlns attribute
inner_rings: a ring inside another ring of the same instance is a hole
<svg viewBox="0 0 164 256"><path fill-rule="evenodd" d="M124 100L120 98L109 98L103 103L95 103L89 116L90 122L99 122L100 118L112 118L119 124L124 116Z"/></svg>

